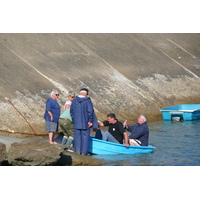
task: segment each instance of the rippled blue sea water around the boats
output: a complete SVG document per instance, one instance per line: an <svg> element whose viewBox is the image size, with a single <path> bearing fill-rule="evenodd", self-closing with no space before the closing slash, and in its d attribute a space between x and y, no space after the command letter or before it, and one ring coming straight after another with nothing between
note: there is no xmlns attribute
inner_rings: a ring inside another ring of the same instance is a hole
<svg viewBox="0 0 200 200"><path fill-rule="evenodd" d="M133 155L93 155L111 166L199 166L200 120L148 123L152 153Z"/></svg>

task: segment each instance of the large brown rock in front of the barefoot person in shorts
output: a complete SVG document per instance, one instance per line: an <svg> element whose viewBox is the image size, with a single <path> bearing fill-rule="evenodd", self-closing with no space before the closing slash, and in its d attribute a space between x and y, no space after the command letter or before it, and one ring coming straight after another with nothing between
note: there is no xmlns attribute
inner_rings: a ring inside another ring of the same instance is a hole
<svg viewBox="0 0 200 200"><path fill-rule="evenodd" d="M15 166L56 165L65 150L63 145L52 145L41 139L29 138L11 145L8 163Z"/></svg>

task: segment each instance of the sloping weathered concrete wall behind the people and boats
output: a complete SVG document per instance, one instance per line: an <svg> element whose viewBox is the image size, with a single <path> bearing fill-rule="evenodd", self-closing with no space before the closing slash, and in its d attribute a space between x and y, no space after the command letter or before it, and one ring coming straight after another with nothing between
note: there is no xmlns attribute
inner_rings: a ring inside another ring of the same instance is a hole
<svg viewBox="0 0 200 200"><path fill-rule="evenodd" d="M1 130L45 132L45 101L53 88L90 90L97 116L131 123L140 113L199 103L200 34L0 34Z"/></svg>

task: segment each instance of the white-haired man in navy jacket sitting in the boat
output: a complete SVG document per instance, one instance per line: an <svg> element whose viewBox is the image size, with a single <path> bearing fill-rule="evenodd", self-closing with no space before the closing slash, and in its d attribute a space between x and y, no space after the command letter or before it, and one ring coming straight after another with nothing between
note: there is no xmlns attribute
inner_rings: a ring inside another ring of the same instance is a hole
<svg viewBox="0 0 200 200"><path fill-rule="evenodd" d="M137 123L132 126L128 126L126 121L123 125L127 131L131 132L131 135L129 135L130 145L148 146L149 127L147 124L147 117L145 115L140 115Z"/></svg>

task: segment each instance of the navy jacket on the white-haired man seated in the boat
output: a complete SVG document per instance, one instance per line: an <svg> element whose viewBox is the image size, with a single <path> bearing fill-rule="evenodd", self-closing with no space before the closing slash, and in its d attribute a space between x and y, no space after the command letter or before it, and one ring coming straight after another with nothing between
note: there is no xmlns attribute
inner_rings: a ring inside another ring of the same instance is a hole
<svg viewBox="0 0 200 200"><path fill-rule="evenodd" d="M137 139L141 142L141 146L148 146L149 127L147 123L136 123L133 126L128 126L127 131L131 132L130 139Z"/></svg>

